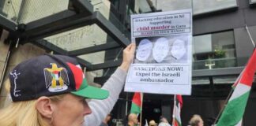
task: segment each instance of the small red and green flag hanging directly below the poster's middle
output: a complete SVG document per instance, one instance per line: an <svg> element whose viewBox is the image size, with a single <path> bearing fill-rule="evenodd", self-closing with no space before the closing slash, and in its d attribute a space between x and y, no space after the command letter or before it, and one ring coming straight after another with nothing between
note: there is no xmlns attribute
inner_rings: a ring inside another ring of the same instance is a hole
<svg viewBox="0 0 256 126"><path fill-rule="evenodd" d="M136 113L137 115L141 113L141 93L135 92L132 101L132 106L130 108L130 113Z"/></svg>

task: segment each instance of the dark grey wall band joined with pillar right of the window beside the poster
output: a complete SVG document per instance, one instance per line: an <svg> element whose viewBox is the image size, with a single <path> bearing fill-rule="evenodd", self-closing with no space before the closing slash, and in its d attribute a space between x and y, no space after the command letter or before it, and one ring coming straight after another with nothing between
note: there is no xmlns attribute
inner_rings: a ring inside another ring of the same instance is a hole
<svg viewBox="0 0 256 126"><path fill-rule="evenodd" d="M235 50L238 66L243 66L252 53L254 46L245 28L246 24L252 38L256 39L256 7L251 7L249 0L237 0L238 7L219 13L209 13L194 18L194 35L203 35L219 31L234 31Z"/></svg>

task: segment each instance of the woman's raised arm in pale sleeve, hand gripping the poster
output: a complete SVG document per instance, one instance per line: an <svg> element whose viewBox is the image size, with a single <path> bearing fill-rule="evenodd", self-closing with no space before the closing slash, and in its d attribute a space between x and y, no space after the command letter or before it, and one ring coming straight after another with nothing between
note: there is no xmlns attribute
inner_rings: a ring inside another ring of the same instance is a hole
<svg viewBox="0 0 256 126"><path fill-rule="evenodd" d="M102 89L109 91L108 98L104 100L92 99L88 102L88 106L92 109L92 113L85 117L84 126L98 126L101 121L111 112L119 98L122 87L126 81L126 73L130 67L130 63L134 59L135 44L130 44L123 50L123 61L114 74L104 83Z"/></svg>

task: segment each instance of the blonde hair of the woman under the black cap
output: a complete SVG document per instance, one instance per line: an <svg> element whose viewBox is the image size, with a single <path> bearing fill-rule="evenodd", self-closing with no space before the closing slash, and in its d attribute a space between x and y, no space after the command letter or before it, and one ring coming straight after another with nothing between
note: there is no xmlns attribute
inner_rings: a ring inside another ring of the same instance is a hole
<svg viewBox="0 0 256 126"><path fill-rule="evenodd" d="M9 80L5 82L6 90L9 92ZM56 102L62 99L64 95L49 97ZM0 109L1 126L48 126L46 120L36 109L36 100L12 102L5 109Z"/></svg>

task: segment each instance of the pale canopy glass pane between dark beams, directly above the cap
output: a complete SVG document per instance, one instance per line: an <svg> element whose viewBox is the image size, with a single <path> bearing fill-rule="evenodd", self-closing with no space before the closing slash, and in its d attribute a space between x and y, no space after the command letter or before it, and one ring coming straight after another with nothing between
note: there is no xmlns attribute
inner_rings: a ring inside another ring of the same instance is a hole
<svg viewBox="0 0 256 126"><path fill-rule="evenodd" d="M97 24L65 31L44 39L67 51L98 46L106 42L115 42Z"/></svg>

